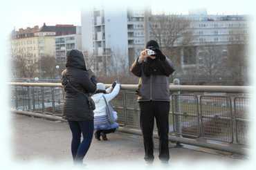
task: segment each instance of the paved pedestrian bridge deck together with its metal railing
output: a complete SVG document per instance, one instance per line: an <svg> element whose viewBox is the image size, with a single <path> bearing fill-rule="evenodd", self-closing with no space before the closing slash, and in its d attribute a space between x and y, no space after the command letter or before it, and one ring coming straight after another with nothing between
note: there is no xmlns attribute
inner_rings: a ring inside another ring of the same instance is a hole
<svg viewBox="0 0 256 170"><path fill-rule="evenodd" d="M62 85L12 82L10 86L11 111L17 113L12 115L17 133L15 156L21 160L71 160L71 134L61 117ZM109 135L107 142L93 140L86 159L143 160L136 88L137 85L122 85L120 94L112 102L120 128ZM214 158L232 162L234 155L246 157L250 87L170 85L170 91L171 159ZM154 138L158 138L156 131ZM157 155L157 148L155 151Z"/></svg>

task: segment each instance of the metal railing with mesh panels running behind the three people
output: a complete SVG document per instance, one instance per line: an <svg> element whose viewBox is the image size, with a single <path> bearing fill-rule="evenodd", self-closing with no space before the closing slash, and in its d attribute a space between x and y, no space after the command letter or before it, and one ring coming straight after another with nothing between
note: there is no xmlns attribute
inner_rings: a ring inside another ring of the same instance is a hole
<svg viewBox="0 0 256 170"><path fill-rule="evenodd" d="M12 111L62 120L64 91L61 84L12 82L10 85ZM121 129L132 133L139 133L140 128L137 88L138 85L122 85L120 94L112 101ZM221 146L219 150L222 151L244 153L243 148L248 142L250 88L170 85L170 139L212 149Z"/></svg>

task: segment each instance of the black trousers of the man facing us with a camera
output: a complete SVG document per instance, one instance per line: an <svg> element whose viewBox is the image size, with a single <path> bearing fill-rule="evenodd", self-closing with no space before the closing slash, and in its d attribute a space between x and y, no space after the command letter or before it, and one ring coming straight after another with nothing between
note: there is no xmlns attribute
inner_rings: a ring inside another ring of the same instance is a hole
<svg viewBox="0 0 256 170"><path fill-rule="evenodd" d="M156 118L156 126L159 136L159 159L167 161L170 159L168 147L169 133L169 111L170 102L139 102L140 104L140 129L143 132L143 141L145 148L145 160L154 160L154 142L153 129L154 118Z"/></svg>

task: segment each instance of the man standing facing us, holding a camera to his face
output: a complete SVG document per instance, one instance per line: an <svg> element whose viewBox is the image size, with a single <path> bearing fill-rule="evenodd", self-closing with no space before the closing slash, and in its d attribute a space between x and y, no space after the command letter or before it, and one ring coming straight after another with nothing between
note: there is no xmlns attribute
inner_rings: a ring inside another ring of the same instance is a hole
<svg viewBox="0 0 256 170"><path fill-rule="evenodd" d="M140 106L140 129L143 133L145 161L154 161L153 129L154 118L159 136L158 158L167 163L170 160L168 147L170 90L169 76L174 72L172 62L163 55L158 43L150 40L146 49L131 65L131 73L140 77L138 102Z"/></svg>

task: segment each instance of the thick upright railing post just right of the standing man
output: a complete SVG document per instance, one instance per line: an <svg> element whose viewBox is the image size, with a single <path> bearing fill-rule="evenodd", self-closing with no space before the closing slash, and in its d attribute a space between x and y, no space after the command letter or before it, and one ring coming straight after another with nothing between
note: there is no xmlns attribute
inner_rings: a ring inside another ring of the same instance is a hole
<svg viewBox="0 0 256 170"><path fill-rule="evenodd" d="M180 85L179 79L174 79L174 85ZM176 131L176 135L178 137L181 137L181 102L179 101L179 94L181 94L180 91L176 92L176 95L174 95L174 129ZM181 146L180 142L176 142L176 146Z"/></svg>

